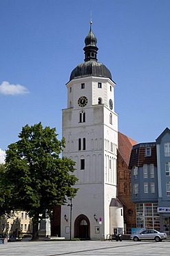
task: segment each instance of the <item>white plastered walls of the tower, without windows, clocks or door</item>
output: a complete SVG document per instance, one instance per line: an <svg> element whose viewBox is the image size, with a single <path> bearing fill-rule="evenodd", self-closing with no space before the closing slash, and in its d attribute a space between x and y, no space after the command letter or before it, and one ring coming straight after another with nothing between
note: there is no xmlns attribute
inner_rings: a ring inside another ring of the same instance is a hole
<svg viewBox="0 0 170 256"><path fill-rule="evenodd" d="M98 89L102 82L102 89ZM85 83L85 89L81 89ZM72 91L70 92L70 86ZM110 90L111 86L111 90ZM109 205L111 198L116 198L116 148L118 147L118 116L109 109L109 99L114 102L114 82L105 77L83 77L72 80L67 84L67 109L63 109L63 137L66 147L63 156L70 157L76 162L74 174L78 177L76 188L79 188L75 199L72 200L72 237L74 236L74 221L80 214L85 214L90 222L90 237L100 238L110 231ZM88 103L79 107L78 98L86 96ZM98 98L103 104L98 104ZM70 108L70 101L72 108ZM80 111L85 111L85 122L79 122ZM109 123L109 113L112 114L112 125ZM78 138L86 138L85 151L78 151ZM110 144L113 144L111 151ZM80 160L85 158L85 170L80 170ZM109 158L111 168L109 168ZM69 203L69 202L68 202ZM67 215L68 221L63 218ZM102 223L94 220L102 219ZM61 236L65 227L70 226L70 207L63 206L61 212ZM100 234L95 234L95 226L100 227Z"/></svg>

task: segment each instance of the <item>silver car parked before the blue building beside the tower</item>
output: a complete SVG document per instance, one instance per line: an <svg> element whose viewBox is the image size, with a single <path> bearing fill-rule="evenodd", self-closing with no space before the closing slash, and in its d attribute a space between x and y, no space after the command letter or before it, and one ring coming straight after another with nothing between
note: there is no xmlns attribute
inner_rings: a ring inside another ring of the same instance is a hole
<svg viewBox="0 0 170 256"><path fill-rule="evenodd" d="M159 232L154 229L142 230L142 232L136 232L131 235L131 240L140 241L140 240L155 240L162 241L167 239L167 234L165 232Z"/></svg>

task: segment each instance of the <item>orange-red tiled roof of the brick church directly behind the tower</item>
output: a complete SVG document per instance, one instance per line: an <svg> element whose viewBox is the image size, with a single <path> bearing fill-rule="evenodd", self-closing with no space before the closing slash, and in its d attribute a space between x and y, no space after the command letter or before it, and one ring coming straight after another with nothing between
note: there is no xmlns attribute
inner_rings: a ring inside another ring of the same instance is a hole
<svg viewBox="0 0 170 256"><path fill-rule="evenodd" d="M137 142L135 140L118 131L118 152L123 157L127 166L129 165L131 149L136 144Z"/></svg>

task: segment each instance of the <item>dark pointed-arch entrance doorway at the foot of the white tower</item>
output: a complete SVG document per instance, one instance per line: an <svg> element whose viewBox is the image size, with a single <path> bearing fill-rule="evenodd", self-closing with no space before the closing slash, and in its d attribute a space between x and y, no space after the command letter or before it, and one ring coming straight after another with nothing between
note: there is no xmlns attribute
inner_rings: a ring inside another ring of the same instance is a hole
<svg viewBox="0 0 170 256"><path fill-rule="evenodd" d="M84 215L79 215L74 222L74 237L89 239L90 238L89 219Z"/></svg>

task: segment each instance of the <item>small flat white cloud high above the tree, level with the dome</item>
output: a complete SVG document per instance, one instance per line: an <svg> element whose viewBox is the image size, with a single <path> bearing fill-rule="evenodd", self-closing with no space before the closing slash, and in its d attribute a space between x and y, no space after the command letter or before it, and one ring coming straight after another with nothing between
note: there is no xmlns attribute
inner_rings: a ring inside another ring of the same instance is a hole
<svg viewBox="0 0 170 256"><path fill-rule="evenodd" d="M10 84L9 82L3 81L0 84L0 93L6 95L17 95L29 93L29 91L21 84Z"/></svg>

